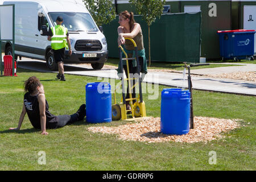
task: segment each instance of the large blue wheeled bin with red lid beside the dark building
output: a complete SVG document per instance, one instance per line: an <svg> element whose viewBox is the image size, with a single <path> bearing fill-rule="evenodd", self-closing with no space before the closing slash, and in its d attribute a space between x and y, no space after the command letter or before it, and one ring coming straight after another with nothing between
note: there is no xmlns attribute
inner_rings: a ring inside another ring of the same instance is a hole
<svg viewBox="0 0 256 182"><path fill-rule="evenodd" d="M225 30L217 31L217 34L222 59L253 59L255 30Z"/></svg>

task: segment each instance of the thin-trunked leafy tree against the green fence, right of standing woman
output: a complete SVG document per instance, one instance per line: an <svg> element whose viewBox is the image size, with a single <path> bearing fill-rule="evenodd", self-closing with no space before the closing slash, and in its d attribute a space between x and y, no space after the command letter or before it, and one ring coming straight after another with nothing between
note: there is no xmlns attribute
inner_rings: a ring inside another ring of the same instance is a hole
<svg viewBox="0 0 256 182"><path fill-rule="evenodd" d="M129 0L130 3L136 8L139 15L142 15L142 19L146 21L148 27L148 58L149 66L151 64L150 56L150 26L155 22L156 18L160 18L163 12L163 6L166 0Z"/></svg>

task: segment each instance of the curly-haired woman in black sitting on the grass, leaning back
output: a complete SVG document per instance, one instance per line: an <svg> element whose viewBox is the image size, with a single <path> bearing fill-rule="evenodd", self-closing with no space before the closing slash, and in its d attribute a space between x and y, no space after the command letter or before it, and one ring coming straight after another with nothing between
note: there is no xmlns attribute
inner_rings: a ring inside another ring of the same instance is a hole
<svg viewBox="0 0 256 182"><path fill-rule="evenodd" d="M19 130L24 116L27 113L32 126L41 129L42 135L48 135L46 129L57 129L65 125L80 121L85 117L85 104L82 104L75 114L72 115L53 115L49 112L48 102L44 95L44 86L38 78L32 76L24 82L24 102L22 113L19 117L19 124L10 130Z"/></svg>

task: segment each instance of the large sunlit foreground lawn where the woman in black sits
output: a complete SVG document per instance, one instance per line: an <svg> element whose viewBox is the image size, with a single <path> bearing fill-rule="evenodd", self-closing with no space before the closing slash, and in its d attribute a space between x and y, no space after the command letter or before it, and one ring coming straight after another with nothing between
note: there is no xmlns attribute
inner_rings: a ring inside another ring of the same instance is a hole
<svg viewBox="0 0 256 182"><path fill-rule="evenodd" d="M0 170L255 170L256 98L193 90L195 116L243 119L244 125L225 139L208 143L146 143L119 140L116 135L92 133L90 126L118 126L125 121L90 124L80 121L61 129L47 130L43 136L33 129L28 117L18 126L23 104L23 83L36 76L44 85L52 114L73 114L85 102L85 85L96 77L66 75L20 69L18 77L0 76ZM151 85L156 86L156 85ZM144 94L147 116L160 117L159 97ZM119 97L119 95L118 95ZM102 108L104 109L104 108ZM101 110L98 109L100 112ZM46 152L46 164L39 165L39 151ZM209 164L209 152L217 154L217 164Z"/></svg>

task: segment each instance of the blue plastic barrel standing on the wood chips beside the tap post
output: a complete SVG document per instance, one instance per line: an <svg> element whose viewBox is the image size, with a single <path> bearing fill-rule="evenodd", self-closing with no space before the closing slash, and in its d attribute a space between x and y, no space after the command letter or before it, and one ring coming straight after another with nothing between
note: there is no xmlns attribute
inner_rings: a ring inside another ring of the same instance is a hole
<svg viewBox="0 0 256 182"><path fill-rule="evenodd" d="M161 93L161 132L173 135L187 134L189 118L190 92L181 89L163 89Z"/></svg>

